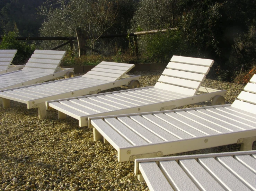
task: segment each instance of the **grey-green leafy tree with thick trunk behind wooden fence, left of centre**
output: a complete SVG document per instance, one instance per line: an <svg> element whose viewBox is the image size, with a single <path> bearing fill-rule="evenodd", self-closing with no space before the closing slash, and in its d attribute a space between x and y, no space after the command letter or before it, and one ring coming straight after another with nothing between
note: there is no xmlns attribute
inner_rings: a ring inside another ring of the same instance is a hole
<svg viewBox="0 0 256 191"><path fill-rule="evenodd" d="M53 8L56 5L59 7ZM79 57L86 53L86 43L94 48L97 39L112 27L117 13L113 0L57 0L39 9L39 14L46 16L42 32L55 29L64 35L76 33Z"/></svg>

